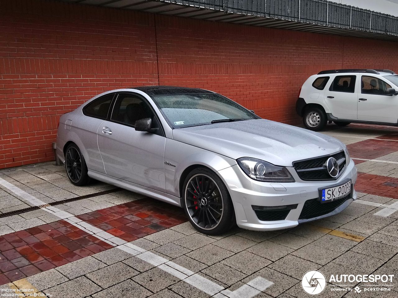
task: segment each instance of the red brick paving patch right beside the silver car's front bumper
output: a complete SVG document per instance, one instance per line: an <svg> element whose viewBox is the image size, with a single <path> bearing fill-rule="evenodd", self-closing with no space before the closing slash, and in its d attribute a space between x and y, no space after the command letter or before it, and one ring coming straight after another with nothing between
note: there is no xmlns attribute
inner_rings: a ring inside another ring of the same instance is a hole
<svg viewBox="0 0 398 298"><path fill-rule="evenodd" d="M358 173L355 190L371 195L398 199L398 178Z"/></svg>

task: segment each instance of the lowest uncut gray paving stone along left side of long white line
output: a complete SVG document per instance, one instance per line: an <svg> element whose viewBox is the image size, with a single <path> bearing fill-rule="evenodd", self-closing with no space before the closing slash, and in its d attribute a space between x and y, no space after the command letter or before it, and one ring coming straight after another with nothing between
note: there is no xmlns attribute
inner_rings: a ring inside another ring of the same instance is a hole
<svg viewBox="0 0 398 298"><path fill-rule="evenodd" d="M151 292L159 292L180 281L178 277L155 267L132 278L133 281L144 286Z"/></svg>

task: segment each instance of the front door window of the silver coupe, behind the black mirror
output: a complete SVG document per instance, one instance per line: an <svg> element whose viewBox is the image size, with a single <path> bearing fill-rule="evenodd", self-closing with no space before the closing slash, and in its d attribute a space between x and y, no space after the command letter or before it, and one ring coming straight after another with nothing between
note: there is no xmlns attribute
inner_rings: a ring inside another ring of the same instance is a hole
<svg viewBox="0 0 398 298"><path fill-rule="evenodd" d="M143 118L151 118L152 127L159 128L158 121L151 108L140 97L131 93L121 93L117 96L111 121L135 126L135 122Z"/></svg>

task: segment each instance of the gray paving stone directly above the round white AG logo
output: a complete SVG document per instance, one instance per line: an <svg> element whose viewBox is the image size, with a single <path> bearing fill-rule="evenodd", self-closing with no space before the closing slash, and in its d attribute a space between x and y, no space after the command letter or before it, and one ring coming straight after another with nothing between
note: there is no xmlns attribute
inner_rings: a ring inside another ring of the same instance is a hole
<svg viewBox="0 0 398 298"><path fill-rule="evenodd" d="M342 252L335 252L334 250L321 248L310 243L298 250L295 250L291 254L319 265L326 265L336 259L336 257L339 257L341 253Z"/></svg>

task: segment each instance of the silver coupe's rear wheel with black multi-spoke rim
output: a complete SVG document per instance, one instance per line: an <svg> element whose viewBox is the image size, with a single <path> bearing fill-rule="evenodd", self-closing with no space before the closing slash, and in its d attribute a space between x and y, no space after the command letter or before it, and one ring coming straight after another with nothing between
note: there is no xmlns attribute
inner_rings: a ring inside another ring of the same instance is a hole
<svg viewBox="0 0 398 298"><path fill-rule="evenodd" d="M65 169L69 181L76 186L88 184L87 165L79 147L72 143L65 150Z"/></svg>

